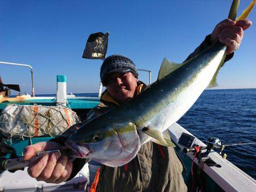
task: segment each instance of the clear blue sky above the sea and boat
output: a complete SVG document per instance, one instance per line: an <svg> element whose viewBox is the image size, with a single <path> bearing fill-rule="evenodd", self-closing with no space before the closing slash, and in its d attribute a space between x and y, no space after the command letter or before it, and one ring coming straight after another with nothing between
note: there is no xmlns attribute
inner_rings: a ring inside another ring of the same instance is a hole
<svg viewBox="0 0 256 192"><path fill-rule="evenodd" d="M101 60L82 59L94 32L110 32L107 56L130 57L152 70L164 57L182 62L228 15L232 1L3 1L0 0L0 61L30 64L36 94L56 93L65 74L72 93L97 92ZM251 1L242 0L240 12ZM256 20L253 10L249 19ZM256 87L256 24L218 75L218 89ZM4 83L31 93L27 68L0 65ZM146 73L140 78L147 82ZM15 93L15 92L13 92Z"/></svg>

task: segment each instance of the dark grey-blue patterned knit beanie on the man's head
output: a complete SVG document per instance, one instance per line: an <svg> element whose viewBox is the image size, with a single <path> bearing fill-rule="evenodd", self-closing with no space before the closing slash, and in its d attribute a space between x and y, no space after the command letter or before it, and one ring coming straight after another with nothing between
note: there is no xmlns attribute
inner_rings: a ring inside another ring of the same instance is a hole
<svg viewBox="0 0 256 192"><path fill-rule="evenodd" d="M138 69L134 65L134 62L123 55L111 55L106 57L101 65L101 82L105 85L105 78L110 73L133 73L135 77L138 77Z"/></svg>

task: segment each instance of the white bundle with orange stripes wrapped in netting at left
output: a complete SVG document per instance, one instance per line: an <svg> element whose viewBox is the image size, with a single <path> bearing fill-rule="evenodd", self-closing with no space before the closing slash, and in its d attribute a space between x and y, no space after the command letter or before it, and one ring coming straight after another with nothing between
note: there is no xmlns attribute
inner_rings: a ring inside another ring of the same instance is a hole
<svg viewBox="0 0 256 192"><path fill-rule="evenodd" d="M69 108L10 104L0 115L0 133L8 138L53 137L79 122L76 112Z"/></svg>

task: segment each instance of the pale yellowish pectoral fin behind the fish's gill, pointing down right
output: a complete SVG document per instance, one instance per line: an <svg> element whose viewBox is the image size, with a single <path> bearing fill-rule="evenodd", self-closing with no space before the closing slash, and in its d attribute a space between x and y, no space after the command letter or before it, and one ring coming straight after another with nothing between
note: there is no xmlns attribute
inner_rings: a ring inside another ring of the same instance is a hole
<svg viewBox="0 0 256 192"><path fill-rule="evenodd" d="M142 129L143 133L147 134L148 136L153 137L152 140L154 143L159 145L163 145L166 147L175 147L175 144L169 138L163 137L163 134L158 130L153 130L152 128L144 127Z"/></svg>

